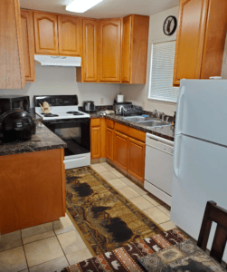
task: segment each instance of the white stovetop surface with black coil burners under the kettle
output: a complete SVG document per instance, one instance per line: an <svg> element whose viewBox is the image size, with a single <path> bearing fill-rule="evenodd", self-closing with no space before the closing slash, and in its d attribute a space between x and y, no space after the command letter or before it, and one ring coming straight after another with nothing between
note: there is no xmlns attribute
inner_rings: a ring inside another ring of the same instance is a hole
<svg viewBox="0 0 227 272"><path fill-rule="evenodd" d="M50 113L43 114L41 107L35 107L35 112L43 120L90 118L90 114L80 112L78 106L53 106Z"/></svg>

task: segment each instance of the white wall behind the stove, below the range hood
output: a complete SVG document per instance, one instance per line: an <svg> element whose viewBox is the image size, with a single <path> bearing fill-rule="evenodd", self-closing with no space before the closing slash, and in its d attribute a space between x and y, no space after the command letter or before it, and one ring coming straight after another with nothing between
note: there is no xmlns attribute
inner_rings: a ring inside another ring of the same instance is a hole
<svg viewBox="0 0 227 272"><path fill-rule="evenodd" d="M77 94L81 106L85 100L100 105L101 98L103 105L112 105L119 92L119 84L77 83L75 67L35 66L35 76L35 83L26 83L24 90L0 90L0 95L29 95L33 102L33 95Z"/></svg>

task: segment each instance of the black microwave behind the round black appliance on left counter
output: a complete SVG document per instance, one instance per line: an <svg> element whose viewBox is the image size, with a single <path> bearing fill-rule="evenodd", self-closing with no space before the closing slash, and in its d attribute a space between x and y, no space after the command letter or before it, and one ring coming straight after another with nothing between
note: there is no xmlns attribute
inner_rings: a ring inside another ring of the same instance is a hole
<svg viewBox="0 0 227 272"><path fill-rule="evenodd" d="M5 112L9 112L13 110L30 112L29 96L1 95L0 96L0 115Z"/></svg>

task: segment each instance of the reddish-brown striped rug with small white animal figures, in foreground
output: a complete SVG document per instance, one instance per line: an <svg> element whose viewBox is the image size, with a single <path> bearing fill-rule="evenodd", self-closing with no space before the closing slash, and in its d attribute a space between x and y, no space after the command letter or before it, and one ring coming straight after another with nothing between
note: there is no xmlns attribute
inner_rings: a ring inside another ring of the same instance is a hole
<svg viewBox="0 0 227 272"><path fill-rule="evenodd" d="M61 272L142 272L146 271L137 262L138 257L145 257L164 248L170 248L186 240L178 230L161 232L151 238L145 238L133 245L117 248L97 257L91 257ZM161 271L161 270L156 270ZM180 270L179 270L180 271Z"/></svg>

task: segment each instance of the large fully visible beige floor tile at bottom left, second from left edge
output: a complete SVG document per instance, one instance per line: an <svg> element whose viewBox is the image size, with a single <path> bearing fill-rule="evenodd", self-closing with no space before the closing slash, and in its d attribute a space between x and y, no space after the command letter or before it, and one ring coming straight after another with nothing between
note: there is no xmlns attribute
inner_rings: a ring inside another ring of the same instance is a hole
<svg viewBox="0 0 227 272"><path fill-rule="evenodd" d="M56 237L46 238L31 244L24 245L28 267L34 267L54 258L64 256Z"/></svg>

